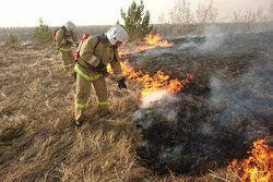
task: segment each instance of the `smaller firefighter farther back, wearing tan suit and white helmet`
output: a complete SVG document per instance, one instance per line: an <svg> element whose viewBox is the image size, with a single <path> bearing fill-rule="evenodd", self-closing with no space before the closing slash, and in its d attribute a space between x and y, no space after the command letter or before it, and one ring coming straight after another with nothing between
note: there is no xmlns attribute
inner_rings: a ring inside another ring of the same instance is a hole
<svg viewBox="0 0 273 182"><path fill-rule="evenodd" d="M56 49L61 52L61 59L66 70L74 66L72 46L76 46L78 41L75 29L76 26L69 21L56 32Z"/></svg>

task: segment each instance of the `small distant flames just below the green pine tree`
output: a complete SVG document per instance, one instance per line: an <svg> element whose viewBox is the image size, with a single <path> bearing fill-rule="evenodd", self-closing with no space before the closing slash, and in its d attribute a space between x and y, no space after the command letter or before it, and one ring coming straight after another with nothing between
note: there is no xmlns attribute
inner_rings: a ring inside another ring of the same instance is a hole
<svg viewBox="0 0 273 182"><path fill-rule="evenodd" d="M158 34L156 35L152 35L152 34L149 34L144 37L144 41L147 44L147 45L142 45L139 47L139 50L140 51L143 51L143 50L146 50L146 49L153 49L157 46L161 46L161 47L173 47L174 44L173 43L169 43L167 40L162 40L161 36Z"/></svg>

